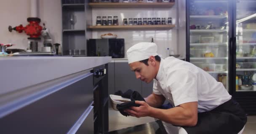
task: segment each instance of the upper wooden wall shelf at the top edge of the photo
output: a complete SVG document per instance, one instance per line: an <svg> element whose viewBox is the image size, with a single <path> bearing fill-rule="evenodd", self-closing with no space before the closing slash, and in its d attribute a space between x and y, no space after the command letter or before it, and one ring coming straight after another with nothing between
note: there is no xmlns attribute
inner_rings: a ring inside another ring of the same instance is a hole
<svg viewBox="0 0 256 134"><path fill-rule="evenodd" d="M89 3L92 8L171 8L174 3Z"/></svg>

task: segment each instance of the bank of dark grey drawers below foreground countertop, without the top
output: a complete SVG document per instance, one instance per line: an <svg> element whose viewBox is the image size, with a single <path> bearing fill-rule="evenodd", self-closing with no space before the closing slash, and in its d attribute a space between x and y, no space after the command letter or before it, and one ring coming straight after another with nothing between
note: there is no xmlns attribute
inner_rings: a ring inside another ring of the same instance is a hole
<svg viewBox="0 0 256 134"><path fill-rule="evenodd" d="M13 101L19 102L19 105L9 107L16 111L1 117L1 134L64 134L81 130L93 132L93 127L88 128L88 124L93 124L92 73L79 72L26 90L26 99ZM37 92L31 94L31 91ZM17 98L16 94L19 93L10 95L10 100ZM13 96L15 98L11 99ZM4 110L1 110L1 115Z"/></svg>

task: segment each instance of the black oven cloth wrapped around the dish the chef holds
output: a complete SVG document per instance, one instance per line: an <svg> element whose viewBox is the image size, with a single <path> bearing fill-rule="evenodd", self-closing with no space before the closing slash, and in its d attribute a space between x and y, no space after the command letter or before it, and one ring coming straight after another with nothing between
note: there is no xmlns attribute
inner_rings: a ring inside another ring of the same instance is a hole
<svg viewBox="0 0 256 134"><path fill-rule="evenodd" d="M124 112L125 109L131 108L132 106L136 106L136 107L140 106L139 104L136 104L135 101L145 101L144 98L137 91L133 91L130 98L131 98L130 102L117 104L117 109L123 116L129 116L128 113Z"/></svg>

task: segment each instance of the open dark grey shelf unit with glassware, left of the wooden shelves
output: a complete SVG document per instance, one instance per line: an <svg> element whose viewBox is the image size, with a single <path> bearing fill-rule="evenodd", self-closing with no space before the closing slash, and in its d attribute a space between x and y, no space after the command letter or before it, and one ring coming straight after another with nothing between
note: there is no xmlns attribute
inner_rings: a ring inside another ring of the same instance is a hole
<svg viewBox="0 0 256 134"><path fill-rule="evenodd" d="M70 3L68 3L70 2ZM86 39L91 38L91 9L88 0L62 0L62 55L86 55ZM74 3L77 2L77 3Z"/></svg>

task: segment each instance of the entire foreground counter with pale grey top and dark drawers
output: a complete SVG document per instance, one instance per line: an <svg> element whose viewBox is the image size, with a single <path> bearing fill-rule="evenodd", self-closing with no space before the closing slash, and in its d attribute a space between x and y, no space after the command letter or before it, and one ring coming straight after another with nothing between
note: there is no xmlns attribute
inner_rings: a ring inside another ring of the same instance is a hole
<svg viewBox="0 0 256 134"><path fill-rule="evenodd" d="M13 70L3 75L21 76L1 79L5 90L0 90L0 134L107 133L110 61L111 57L0 59L3 67ZM12 69L16 64L19 69Z"/></svg>

